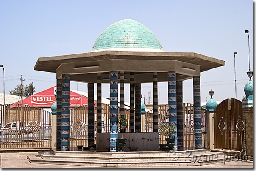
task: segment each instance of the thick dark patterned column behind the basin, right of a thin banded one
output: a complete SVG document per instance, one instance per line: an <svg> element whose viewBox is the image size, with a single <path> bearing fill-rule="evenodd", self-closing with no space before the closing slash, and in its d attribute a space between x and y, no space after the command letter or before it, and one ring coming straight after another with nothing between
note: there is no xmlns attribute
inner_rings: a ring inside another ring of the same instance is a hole
<svg viewBox="0 0 256 171"><path fill-rule="evenodd" d="M134 84L135 88L135 132L141 132L141 116L140 116L140 83Z"/></svg>

